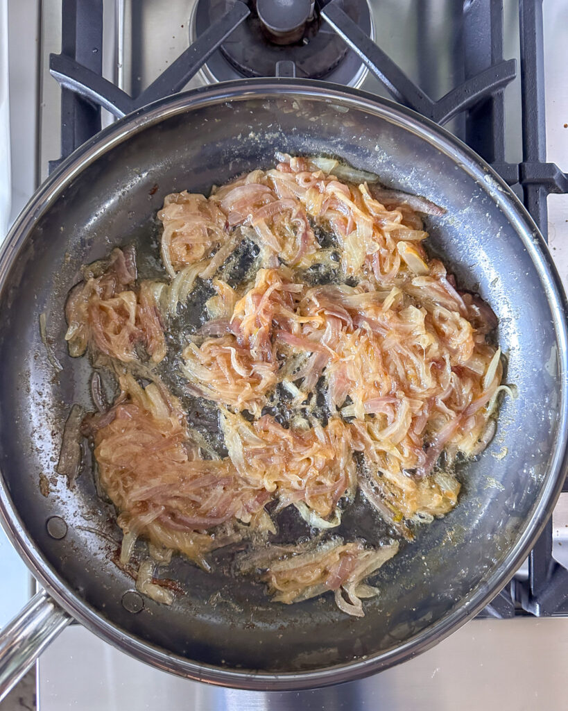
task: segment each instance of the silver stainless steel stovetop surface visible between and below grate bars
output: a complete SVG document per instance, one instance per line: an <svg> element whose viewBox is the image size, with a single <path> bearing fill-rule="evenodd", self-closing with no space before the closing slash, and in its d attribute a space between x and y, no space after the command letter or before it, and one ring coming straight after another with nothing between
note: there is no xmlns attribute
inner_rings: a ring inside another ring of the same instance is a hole
<svg viewBox="0 0 568 711"><path fill-rule="evenodd" d="M104 0L104 75L137 95L187 48L194 7L195 0L170 0L167 11L158 0ZM463 3L371 0L370 7L377 43L422 89L437 99L456 85L460 77L453 58L456 43L461 41ZM518 2L506 0L503 8L503 56L518 58ZM38 182L45 179L48 161L59 156L60 89L49 74L48 55L60 51L61 19L60 0L29 0L9 6L10 74L4 77L4 86L9 80L10 87L13 156L9 219L15 218ZM547 159L564 171L568 169L567 26L568 4L545 0ZM0 21L0 31L1 27ZM18 41L13 41L14 37ZM418 42L427 48L422 58L415 51ZM430 61L425 61L425 56ZM0 66L0 111L1 70ZM188 87L203 81L201 73ZM370 74L361 88L388 97ZM504 97L504 158L515 164L523 159L519 76L506 87ZM103 112L103 124L110 120ZM452 119L447 127L462 136L464 118ZM568 287L568 196L550 196L548 210L550 249L564 287ZM555 510L553 544L553 555L568 565L568 494L561 496ZM0 623L5 624L25 601L29 585L23 563L3 534L0 565L4 572ZM527 574L525 566L519 577ZM567 661L568 617L476 619L431 651L368 680L312 692L245 693L173 678L114 650L80 626L72 626L40 659L38 708L357 710L384 705L393 710L436 707L443 711L459 703L464 710L555 710L565 708L562 688Z"/></svg>

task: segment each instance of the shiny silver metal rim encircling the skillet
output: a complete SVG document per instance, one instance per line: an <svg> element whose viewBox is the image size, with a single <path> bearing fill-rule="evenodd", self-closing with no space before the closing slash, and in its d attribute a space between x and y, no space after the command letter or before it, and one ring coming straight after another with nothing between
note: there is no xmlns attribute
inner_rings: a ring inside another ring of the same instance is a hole
<svg viewBox="0 0 568 711"><path fill-rule="evenodd" d="M162 119L175 114L186 112L188 109L229 100L253 98L259 95L292 95L298 93L301 93L302 97L312 97L329 102L346 100L354 108L363 109L369 114L376 114L389 122L401 124L405 129L417 134L425 141L435 144L440 151L457 156L461 169L470 176L477 178L478 181L483 182L484 180L487 181L487 178L491 179L493 186L498 188L492 198L498 203L508 221L515 227L515 231L523 241L523 245L528 251L533 264L535 264L540 282L545 287L547 302L550 305L554 319L557 346L559 346L559 380L562 382L562 392L559 405L560 422L558 431L565 432L568 424L568 335L566 326L568 306L555 266L550 260L547 247L536 225L501 178L489 166L484 164L484 161L481 161L473 151L461 144L461 141L455 139L444 129L440 129L436 124L419 117L415 112L400 107L393 102L378 100L376 97L367 95L364 92L347 90L344 87L336 87L325 82L310 80L266 81L261 79L227 82L160 100L160 102L156 102L151 107L140 109L138 112L131 114L131 116L121 119L77 149L31 198L23 213L13 225L1 250L0 285L4 283L6 275L9 273L9 268L33 223L38 220L45 210L48 210L70 181L85 166L91 164L112 146L121 143L128 139L129 136L138 133L151 124L158 123ZM274 673L238 673L224 668L187 661L187 659L170 655L162 648L155 647L139 638L126 635L123 631L102 619L96 611L82 602L79 595L67 589L67 584L58 574L54 574L43 554L35 550L35 544L28 537L5 486L0 488L1 523L11 542L13 542L13 545L25 560L26 565L30 567L35 577L53 595L54 599L84 626L123 651L131 653L142 661L155 665L157 668L170 670L195 680L247 689L312 688L354 680L375 673L395 663L400 663L415 653L420 653L433 646L451 631L471 619L472 616L488 604L496 592L513 576L516 568L528 555L530 548L542 531L562 489L564 473L568 463L567 456L567 442L564 438L562 441L557 442L555 456L549 468L547 480L540 490L539 500L535 506L532 520L525 522L522 535L508 551L500 569L495 570L484 584L479 584L474 590L474 594L470 594L461 607L437 621L427 631L419 632L402 645L389 651L378 653L375 656L353 663L306 673L280 675Z"/></svg>

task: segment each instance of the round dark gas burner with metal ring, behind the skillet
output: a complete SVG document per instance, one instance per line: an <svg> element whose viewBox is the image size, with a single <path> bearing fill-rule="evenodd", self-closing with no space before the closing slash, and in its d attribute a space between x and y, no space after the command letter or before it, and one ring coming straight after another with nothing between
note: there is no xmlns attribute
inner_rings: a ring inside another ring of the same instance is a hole
<svg viewBox="0 0 568 711"><path fill-rule="evenodd" d="M359 85L366 68L342 38L320 18L310 0L249 0L251 14L207 61L208 80L271 77L280 62L293 63L295 75ZM222 16L230 0L198 0L191 40ZM373 33L366 0L344 2L344 11L367 34ZM282 67L284 65L280 65ZM290 66L290 65L288 65Z"/></svg>

